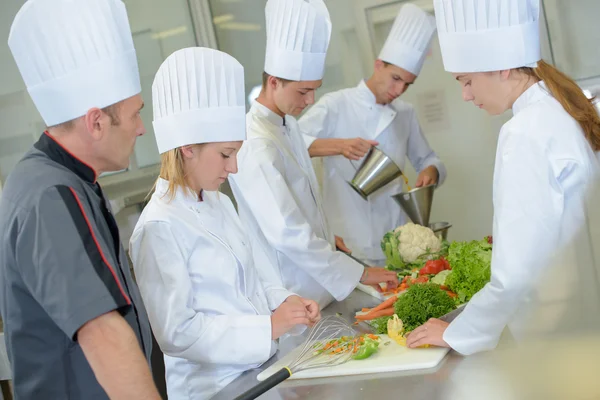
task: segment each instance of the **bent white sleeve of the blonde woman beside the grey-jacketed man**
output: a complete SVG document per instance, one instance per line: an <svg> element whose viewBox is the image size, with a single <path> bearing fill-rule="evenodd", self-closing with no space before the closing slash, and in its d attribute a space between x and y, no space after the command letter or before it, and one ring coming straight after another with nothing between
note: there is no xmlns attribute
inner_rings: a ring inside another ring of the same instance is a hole
<svg viewBox="0 0 600 400"><path fill-rule="evenodd" d="M131 248L137 283L163 353L196 363L248 365L269 359L270 315L209 316L192 308L186 260L167 223L146 223Z"/></svg>

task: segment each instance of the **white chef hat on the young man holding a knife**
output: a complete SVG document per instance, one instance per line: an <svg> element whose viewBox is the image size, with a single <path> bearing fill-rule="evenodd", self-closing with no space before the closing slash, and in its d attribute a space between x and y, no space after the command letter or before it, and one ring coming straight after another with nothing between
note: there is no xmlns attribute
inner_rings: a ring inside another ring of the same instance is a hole
<svg viewBox="0 0 600 400"><path fill-rule="evenodd" d="M322 0L268 0L265 72L292 81L323 78L331 37Z"/></svg>

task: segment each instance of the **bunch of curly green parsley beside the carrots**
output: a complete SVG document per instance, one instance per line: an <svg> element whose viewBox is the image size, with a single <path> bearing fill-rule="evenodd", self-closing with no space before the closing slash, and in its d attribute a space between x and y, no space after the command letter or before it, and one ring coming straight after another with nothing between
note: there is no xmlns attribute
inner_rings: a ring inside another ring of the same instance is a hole
<svg viewBox="0 0 600 400"><path fill-rule="evenodd" d="M423 325L430 318L439 318L455 308L454 300L434 283L410 286L394 304L396 314L404 323L406 332Z"/></svg>

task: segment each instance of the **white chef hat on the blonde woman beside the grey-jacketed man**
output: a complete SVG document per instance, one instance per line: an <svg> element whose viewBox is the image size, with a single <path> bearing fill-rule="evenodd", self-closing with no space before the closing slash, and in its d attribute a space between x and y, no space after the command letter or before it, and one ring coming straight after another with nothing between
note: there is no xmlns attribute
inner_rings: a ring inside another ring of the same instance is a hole
<svg viewBox="0 0 600 400"><path fill-rule="evenodd" d="M171 54L152 84L159 153L246 139L244 68L229 54L190 47Z"/></svg>

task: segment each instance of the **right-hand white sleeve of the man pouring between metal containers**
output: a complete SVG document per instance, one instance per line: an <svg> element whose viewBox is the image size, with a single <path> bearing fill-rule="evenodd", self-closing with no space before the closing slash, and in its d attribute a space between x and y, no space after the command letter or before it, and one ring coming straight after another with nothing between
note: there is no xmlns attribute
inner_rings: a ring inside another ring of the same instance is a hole
<svg viewBox="0 0 600 400"><path fill-rule="evenodd" d="M425 135L423 135L423 131L421 130L421 125L419 124L415 110L412 109L411 111L411 127L407 149L408 159L417 173L432 165L436 167L440 175L437 186L440 186L446 180L446 166L432 150L429 142L425 138Z"/></svg>

